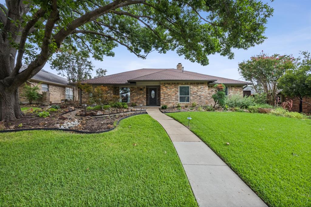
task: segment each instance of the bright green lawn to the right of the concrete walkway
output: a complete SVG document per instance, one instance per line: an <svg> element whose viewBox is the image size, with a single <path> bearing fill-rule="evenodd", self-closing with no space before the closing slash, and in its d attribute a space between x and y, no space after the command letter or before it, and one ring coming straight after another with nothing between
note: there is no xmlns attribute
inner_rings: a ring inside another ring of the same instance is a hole
<svg viewBox="0 0 311 207"><path fill-rule="evenodd" d="M188 125L271 206L311 206L311 120L240 112L181 112ZM230 145L227 145L229 142Z"/></svg>

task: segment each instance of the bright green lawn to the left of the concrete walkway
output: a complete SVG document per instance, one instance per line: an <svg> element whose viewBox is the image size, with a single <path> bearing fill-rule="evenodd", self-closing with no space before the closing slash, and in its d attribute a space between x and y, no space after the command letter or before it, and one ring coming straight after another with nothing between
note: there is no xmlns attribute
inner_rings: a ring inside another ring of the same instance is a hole
<svg viewBox="0 0 311 207"><path fill-rule="evenodd" d="M113 131L0 134L0 206L197 206L169 137L149 115Z"/></svg>

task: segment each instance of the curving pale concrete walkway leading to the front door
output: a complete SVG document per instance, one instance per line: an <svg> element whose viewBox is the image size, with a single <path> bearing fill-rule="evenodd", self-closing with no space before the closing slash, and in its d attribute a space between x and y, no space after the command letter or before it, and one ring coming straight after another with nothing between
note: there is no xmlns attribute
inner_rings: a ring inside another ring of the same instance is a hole
<svg viewBox="0 0 311 207"><path fill-rule="evenodd" d="M200 207L267 206L202 140L187 127L147 109L171 138Z"/></svg>

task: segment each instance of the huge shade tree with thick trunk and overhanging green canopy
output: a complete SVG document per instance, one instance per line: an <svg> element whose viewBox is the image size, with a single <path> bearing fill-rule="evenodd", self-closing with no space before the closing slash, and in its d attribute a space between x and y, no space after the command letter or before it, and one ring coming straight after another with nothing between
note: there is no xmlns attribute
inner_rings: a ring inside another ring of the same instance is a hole
<svg viewBox="0 0 311 207"><path fill-rule="evenodd" d="M273 9L259 0L6 0L0 4L0 120L23 116L17 88L62 44L92 57L126 47L139 58L174 50L192 62L233 58L264 41ZM28 66L20 72L22 63Z"/></svg>

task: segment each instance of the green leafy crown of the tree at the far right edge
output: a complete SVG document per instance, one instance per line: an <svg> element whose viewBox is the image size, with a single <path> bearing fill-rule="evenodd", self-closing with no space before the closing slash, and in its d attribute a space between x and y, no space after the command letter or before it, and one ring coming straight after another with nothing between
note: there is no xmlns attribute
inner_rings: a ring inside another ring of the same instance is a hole
<svg viewBox="0 0 311 207"><path fill-rule="evenodd" d="M296 68L289 69L278 80L282 94L291 97L311 97L311 58L310 53L302 52L304 58ZM300 60L300 58L298 58ZM309 103L311 104L311 103Z"/></svg>

